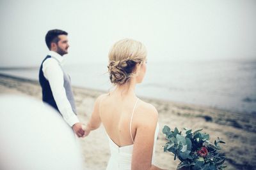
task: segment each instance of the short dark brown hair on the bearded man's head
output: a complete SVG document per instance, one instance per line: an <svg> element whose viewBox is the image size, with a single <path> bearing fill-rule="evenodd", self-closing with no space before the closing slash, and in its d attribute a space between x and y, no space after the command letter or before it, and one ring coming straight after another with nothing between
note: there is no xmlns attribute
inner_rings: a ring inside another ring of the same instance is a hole
<svg viewBox="0 0 256 170"><path fill-rule="evenodd" d="M60 38L58 36L60 35L68 35L68 32L62 31L60 29L52 29L47 32L45 36L45 43L48 46L49 50L51 50L51 43L58 43L60 41Z"/></svg>

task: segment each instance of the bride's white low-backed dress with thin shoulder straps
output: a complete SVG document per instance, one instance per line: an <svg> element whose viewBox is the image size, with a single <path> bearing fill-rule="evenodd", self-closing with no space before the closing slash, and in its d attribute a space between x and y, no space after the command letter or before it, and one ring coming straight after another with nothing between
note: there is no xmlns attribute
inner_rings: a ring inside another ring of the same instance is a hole
<svg viewBox="0 0 256 170"><path fill-rule="evenodd" d="M132 117L133 117L134 109L136 107L137 102L138 102L138 99L134 105L134 108L132 111ZM131 122L132 122L132 117L131 117ZM131 122L130 122L130 133L131 133ZM159 132L159 125L157 123L155 137L154 137L152 164L154 164L154 155L155 155L154 153L156 150L156 139L157 139L158 132ZM131 134L131 138L132 138L132 134ZM132 141L134 142L133 139ZM109 138L109 148L111 152L111 157L109 159L106 170L131 170L133 145L119 147L113 142L111 138Z"/></svg>

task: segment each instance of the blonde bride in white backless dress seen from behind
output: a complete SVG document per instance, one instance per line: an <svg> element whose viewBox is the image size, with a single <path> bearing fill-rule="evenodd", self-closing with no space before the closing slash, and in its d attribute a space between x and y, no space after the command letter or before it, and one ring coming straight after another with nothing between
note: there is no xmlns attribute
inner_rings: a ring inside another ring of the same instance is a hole
<svg viewBox="0 0 256 170"><path fill-rule="evenodd" d="M109 138L111 157L107 170L160 169L154 166L159 125L156 108L135 94L147 69L145 46L133 39L122 39L109 52L109 78L116 88L95 101L86 135L101 122Z"/></svg>

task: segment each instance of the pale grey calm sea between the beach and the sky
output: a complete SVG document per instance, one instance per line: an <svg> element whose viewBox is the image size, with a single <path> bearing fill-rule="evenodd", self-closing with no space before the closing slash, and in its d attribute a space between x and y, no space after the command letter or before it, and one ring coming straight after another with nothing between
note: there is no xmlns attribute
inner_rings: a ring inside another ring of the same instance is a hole
<svg viewBox="0 0 256 170"><path fill-rule="evenodd" d="M72 85L110 90L107 63L65 65ZM38 80L38 69L1 70ZM139 96L256 114L256 60L148 62Z"/></svg>

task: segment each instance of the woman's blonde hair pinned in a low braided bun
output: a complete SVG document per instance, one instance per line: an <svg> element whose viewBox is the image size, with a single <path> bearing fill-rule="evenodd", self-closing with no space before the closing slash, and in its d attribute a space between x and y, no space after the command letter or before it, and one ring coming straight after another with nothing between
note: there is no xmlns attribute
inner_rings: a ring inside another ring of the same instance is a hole
<svg viewBox="0 0 256 170"><path fill-rule="evenodd" d="M136 64L146 59L147 50L140 41L121 39L112 46L108 57L109 79L115 85L122 85L134 76Z"/></svg>

